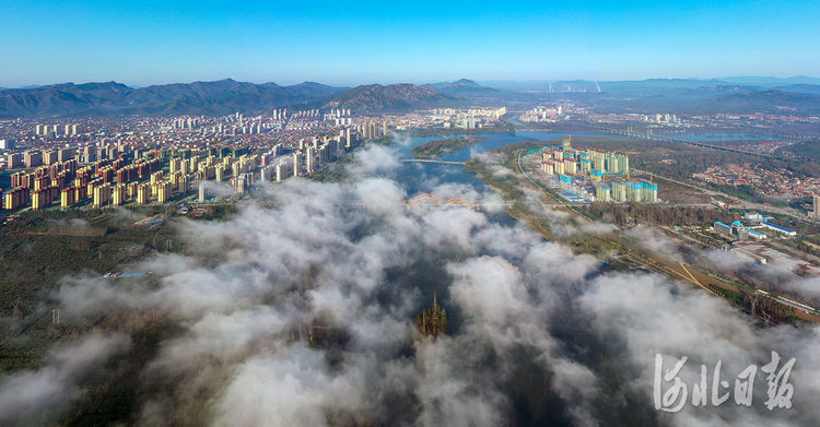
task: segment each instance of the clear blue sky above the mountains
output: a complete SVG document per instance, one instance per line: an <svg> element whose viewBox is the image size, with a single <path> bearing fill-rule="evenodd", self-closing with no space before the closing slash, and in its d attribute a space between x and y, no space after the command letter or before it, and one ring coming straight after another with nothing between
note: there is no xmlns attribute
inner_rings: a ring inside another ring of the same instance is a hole
<svg viewBox="0 0 820 427"><path fill-rule="evenodd" d="M820 76L820 2L0 0L0 86Z"/></svg>

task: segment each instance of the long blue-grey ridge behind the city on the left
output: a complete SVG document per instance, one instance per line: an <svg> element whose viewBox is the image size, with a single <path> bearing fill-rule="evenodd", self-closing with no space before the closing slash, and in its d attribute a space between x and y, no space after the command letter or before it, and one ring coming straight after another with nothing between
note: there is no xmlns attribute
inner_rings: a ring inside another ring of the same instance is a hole
<svg viewBox="0 0 820 427"><path fill-rule="evenodd" d="M0 117L82 115L223 115L262 111L329 98L342 87L291 86L231 79L131 88L121 83L62 83L0 91Z"/></svg>

